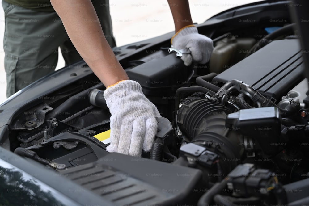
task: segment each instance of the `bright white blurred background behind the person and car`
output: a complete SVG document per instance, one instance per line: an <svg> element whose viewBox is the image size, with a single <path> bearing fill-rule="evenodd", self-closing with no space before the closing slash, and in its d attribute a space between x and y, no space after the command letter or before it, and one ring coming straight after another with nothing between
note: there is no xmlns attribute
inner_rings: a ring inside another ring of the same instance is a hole
<svg viewBox="0 0 309 206"><path fill-rule="evenodd" d="M258 0L189 0L194 23L202 23L213 15L226 9ZM109 0L113 32L117 46L133 43L159 36L174 30L174 23L167 0ZM4 13L0 9L0 103L6 99L6 73L4 70ZM65 63L59 50L56 67L60 69Z"/></svg>

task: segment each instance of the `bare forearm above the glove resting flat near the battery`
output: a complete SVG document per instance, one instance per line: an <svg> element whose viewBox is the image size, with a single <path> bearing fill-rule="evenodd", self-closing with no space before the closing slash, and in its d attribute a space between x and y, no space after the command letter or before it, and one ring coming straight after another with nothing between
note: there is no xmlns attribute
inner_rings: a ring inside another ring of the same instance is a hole
<svg viewBox="0 0 309 206"><path fill-rule="evenodd" d="M90 0L50 0L78 53L107 87L129 79L105 39Z"/></svg>

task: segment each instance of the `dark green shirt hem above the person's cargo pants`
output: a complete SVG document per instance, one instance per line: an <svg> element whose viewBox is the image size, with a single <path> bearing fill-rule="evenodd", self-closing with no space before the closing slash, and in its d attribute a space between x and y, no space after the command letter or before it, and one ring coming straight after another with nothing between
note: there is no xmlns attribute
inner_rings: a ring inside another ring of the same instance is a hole
<svg viewBox="0 0 309 206"><path fill-rule="evenodd" d="M50 0L4 0L9 4L21 6L27 9L36 11L55 11L50 3Z"/></svg>

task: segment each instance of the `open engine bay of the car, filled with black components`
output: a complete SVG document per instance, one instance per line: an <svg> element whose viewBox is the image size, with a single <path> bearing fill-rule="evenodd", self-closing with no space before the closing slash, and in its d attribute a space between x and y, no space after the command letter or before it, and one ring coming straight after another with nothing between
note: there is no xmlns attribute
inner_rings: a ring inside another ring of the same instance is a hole
<svg viewBox="0 0 309 206"><path fill-rule="evenodd" d="M142 158L106 151L110 113L94 75L19 110L7 149L116 205L307 203L308 80L295 25L276 15L286 21L199 27L214 40L205 65L184 66L168 41L120 61L162 116Z"/></svg>

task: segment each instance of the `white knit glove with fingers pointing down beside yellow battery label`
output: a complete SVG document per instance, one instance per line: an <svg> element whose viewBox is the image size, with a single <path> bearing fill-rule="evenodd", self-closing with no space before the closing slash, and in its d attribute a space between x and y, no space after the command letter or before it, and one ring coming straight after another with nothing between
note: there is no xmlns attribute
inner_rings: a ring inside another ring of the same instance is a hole
<svg viewBox="0 0 309 206"><path fill-rule="evenodd" d="M110 140L108 152L140 157L142 149L150 151L157 133L156 117L159 111L143 94L142 87L132 80L109 86L104 98L110 113Z"/></svg>

